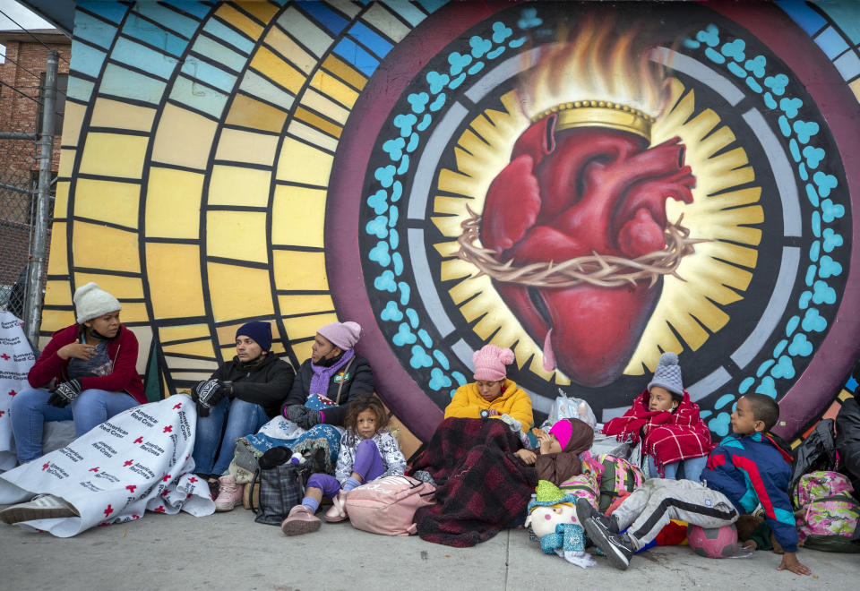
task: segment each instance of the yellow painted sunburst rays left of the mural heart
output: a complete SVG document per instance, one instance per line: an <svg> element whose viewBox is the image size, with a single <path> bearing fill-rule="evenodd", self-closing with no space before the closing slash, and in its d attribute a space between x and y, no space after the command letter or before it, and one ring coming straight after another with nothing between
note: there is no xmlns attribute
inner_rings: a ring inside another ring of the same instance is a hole
<svg viewBox="0 0 860 591"><path fill-rule="evenodd" d="M479 338L493 337L495 345L512 347L520 368L530 359L531 372L547 381L555 374L555 382L566 385L570 383L566 376L543 368L540 347L522 329L520 321L496 292L490 278L486 275L473 278L477 269L457 258L459 244L456 238L462 232L460 223L469 218L466 206L469 205L473 211L484 210L490 184L511 161L514 141L529 126L529 119L520 109L520 99L515 90L507 92L499 100L502 110L486 109L458 138L453 149L457 169L443 168L439 173L438 194L434 197L436 215L432 219L443 236L452 239L434 244L445 257L441 279L460 279L449 290L449 295L466 321L480 319L474 328Z"/></svg>

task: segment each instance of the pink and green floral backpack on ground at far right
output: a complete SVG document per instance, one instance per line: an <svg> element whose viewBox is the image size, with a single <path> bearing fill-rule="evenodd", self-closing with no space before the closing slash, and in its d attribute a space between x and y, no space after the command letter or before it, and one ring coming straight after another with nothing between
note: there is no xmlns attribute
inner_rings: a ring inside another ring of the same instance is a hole
<svg viewBox="0 0 860 591"><path fill-rule="evenodd" d="M853 491L839 472L820 470L801 476L793 499L801 545L825 552L860 552L860 546L851 544L860 519L860 503L851 496Z"/></svg>

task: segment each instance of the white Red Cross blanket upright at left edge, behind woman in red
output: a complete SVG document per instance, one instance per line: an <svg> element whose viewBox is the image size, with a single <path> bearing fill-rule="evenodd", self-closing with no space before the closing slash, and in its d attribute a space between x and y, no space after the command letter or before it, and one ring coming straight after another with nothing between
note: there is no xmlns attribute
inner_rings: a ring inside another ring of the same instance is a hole
<svg viewBox="0 0 860 591"><path fill-rule="evenodd" d="M21 321L13 313L0 311L0 471L18 463L9 408L15 395L30 387L27 374L35 360Z"/></svg>

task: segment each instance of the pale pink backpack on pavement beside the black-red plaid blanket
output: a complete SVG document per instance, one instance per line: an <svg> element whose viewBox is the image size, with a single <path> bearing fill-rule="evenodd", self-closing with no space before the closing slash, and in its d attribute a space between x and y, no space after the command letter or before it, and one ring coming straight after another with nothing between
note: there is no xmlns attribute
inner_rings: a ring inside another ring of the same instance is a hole
<svg viewBox="0 0 860 591"><path fill-rule="evenodd" d="M347 515L353 527L372 534L415 534L415 511L434 504L435 490L409 476L385 476L349 492Z"/></svg>

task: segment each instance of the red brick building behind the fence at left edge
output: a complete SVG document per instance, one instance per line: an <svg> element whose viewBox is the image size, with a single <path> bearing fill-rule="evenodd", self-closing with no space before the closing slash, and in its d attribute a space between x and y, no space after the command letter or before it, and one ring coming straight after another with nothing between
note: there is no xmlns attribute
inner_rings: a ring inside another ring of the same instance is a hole
<svg viewBox="0 0 860 591"><path fill-rule="evenodd" d="M6 47L5 63L0 64L0 132L41 131L40 88L45 78L47 47L59 52L57 88L62 92L56 94L58 116L51 162L56 176L72 40L53 29L2 30L0 44ZM32 213L31 194L21 190L30 191L38 181L38 151L31 140L0 140L0 309L8 307L16 313L20 308L10 305L9 297L27 264Z"/></svg>

